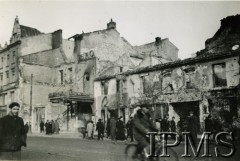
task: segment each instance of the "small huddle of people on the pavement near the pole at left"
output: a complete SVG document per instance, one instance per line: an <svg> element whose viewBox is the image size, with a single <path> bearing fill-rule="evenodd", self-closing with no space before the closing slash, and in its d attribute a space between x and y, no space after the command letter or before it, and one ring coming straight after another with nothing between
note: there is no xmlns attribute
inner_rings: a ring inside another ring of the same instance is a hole
<svg viewBox="0 0 240 161"><path fill-rule="evenodd" d="M57 120L55 121L47 120L46 123L41 121L39 126L40 126L40 132L44 133L45 131L46 135L59 134L59 131L60 131L59 123Z"/></svg>

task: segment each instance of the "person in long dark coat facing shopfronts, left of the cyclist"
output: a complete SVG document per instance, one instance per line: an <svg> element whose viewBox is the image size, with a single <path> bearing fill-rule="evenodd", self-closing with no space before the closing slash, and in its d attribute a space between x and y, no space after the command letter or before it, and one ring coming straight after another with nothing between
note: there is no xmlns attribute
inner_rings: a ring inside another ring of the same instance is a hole
<svg viewBox="0 0 240 161"><path fill-rule="evenodd" d="M120 116L116 123L116 141L117 140L126 141L125 128L126 126L123 122L123 117Z"/></svg>

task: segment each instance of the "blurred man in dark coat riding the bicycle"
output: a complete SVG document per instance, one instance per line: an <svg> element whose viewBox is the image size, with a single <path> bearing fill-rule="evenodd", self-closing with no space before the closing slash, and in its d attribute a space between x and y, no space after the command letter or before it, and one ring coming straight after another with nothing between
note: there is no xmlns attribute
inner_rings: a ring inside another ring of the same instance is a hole
<svg viewBox="0 0 240 161"><path fill-rule="evenodd" d="M136 108L138 109L138 107ZM145 147L149 146L149 139L147 138L148 132L157 132L157 128L154 123L149 118L149 109L147 107L142 107L137 110L133 119L133 135L135 140L138 142L137 149L135 151L135 156L140 154Z"/></svg>

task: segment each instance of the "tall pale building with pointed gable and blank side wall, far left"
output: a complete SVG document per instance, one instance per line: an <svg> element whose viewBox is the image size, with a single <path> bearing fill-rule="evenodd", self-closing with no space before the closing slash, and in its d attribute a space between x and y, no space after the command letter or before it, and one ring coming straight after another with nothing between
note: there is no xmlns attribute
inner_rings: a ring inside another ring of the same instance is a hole
<svg viewBox="0 0 240 161"><path fill-rule="evenodd" d="M48 95L58 89L56 68L67 61L71 43L62 39L62 30L42 33L21 25L16 17L10 44L0 50L0 117L7 114L10 102L17 101L24 121L37 130L40 120L46 121L51 110L60 111L46 110Z"/></svg>

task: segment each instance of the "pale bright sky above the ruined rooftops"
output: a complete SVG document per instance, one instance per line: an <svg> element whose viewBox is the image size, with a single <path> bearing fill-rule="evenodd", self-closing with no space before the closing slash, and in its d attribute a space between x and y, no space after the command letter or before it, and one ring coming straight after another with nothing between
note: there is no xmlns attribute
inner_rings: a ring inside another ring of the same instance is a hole
<svg viewBox="0 0 240 161"><path fill-rule="evenodd" d="M16 15L20 24L50 33L63 30L69 38L82 31L105 29L112 18L117 30L132 45L169 38L188 58L204 48L220 27L220 20L240 14L240 2L114 2L0 0L0 44L9 42Z"/></svg>

